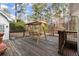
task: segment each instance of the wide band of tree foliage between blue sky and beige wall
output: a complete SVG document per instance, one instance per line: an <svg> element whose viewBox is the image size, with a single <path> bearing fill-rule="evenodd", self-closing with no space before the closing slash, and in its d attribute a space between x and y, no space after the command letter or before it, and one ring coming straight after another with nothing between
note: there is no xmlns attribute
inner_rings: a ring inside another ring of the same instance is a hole
<svg viewBox="0 0 79 59"><path fill-rule="evenodd" d="M48 21L52 19L52 17L64 18L69 13L67 3L36 3L32 4L32 9L33 15L31 16L31 18L35 20L41 19Z"/></svg>

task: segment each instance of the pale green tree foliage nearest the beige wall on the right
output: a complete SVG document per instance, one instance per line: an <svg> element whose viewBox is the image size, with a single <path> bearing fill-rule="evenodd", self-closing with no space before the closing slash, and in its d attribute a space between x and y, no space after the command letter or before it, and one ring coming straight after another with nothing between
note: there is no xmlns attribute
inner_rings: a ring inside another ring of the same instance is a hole
<svg viewBox="0 0 79 59"><path fill-rule="evenodd" d="M60 20L64 20L65 17L69 16L69 10L68 10L68 4L67 3L55 3L52 4L52 9L54 11L53 16L56 18L59 18L59 23Z"/></svg>

